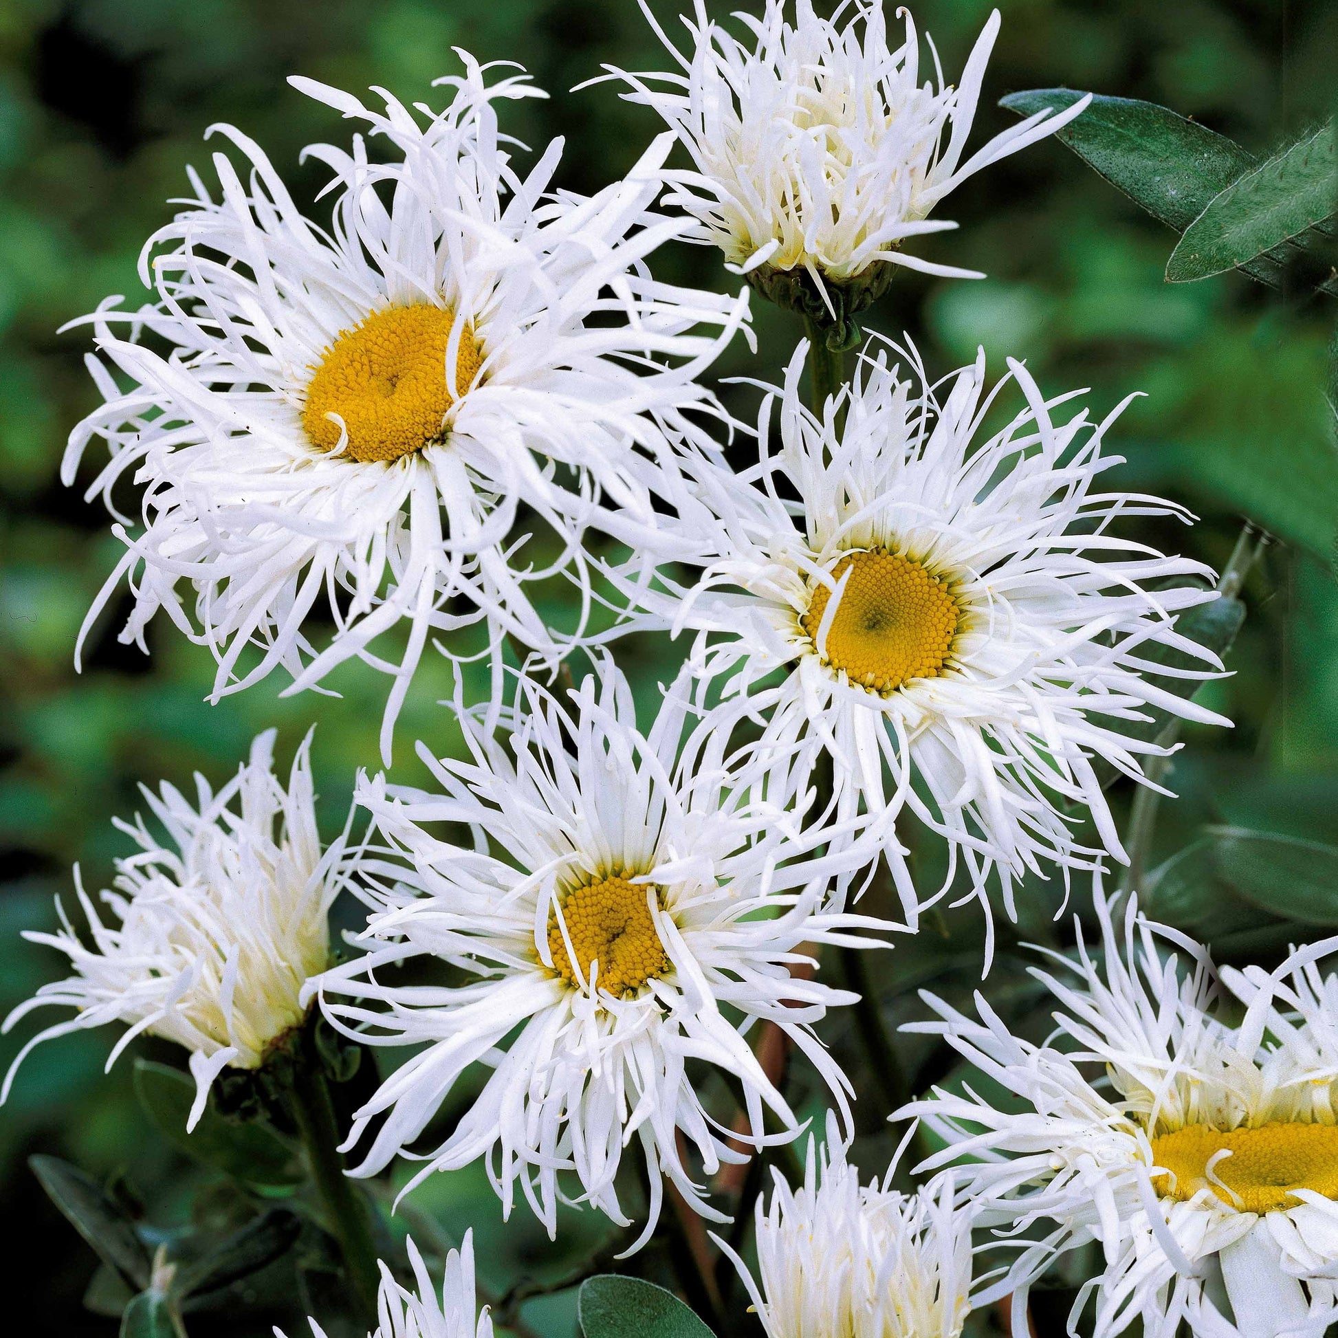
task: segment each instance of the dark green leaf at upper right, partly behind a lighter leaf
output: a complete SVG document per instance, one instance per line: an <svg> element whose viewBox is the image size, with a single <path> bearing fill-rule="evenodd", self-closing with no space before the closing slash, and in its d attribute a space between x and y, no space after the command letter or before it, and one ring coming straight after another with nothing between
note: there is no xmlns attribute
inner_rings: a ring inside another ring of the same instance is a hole
<svg viewBox="0 0 1338 1338"><path fill-rule="evenodd" d="M1032 88L1009 94L999 106L1030 116L1045 108L1062 111L1081 96L1072 88ZM1054 138L1177 233L1256 162L1235 140L1169 107L1103 94L1094 94L1086 111Z"/></svg>

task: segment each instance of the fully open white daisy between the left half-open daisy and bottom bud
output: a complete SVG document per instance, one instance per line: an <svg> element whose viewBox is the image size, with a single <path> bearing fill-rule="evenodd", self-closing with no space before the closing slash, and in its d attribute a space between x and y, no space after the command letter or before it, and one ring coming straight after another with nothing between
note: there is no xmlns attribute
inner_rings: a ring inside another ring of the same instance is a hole
<svg viewBox="0 0 1338 1338"><path fill-rule="evenodd" d="M562 1173L574 1172L573 1202L628 1224L615 1176L636 1139L650 1185L640 1246L660 1214L661 1173L721 1220L693 1183L686 1144L708 1175L745 1160L719 1123L732 1112L708 1112L689 1061L741 1089L749 1132L736 1137L796 1136L795 1113L745 1036L768 1020L844 1109L848 1082L812 1028L855 995L791 967L812 966L819 943L880 946L851 931L884 926L827 907L840 856L814 856L791 835L791 815L748 800L719 735L685 729L688 686L680 678L642 735L611 665L585 680L570 710L524 680L529 713L511 721L508 744L462 716L472 763L435 761L420 747L440 793L381 777L360 785L401 858L369 864L384 886L363 935L367 957L316 983L336 1026L356 1028L368 1045L419 1049L357 1112L347 1147L367 1131L371 1145L352 1173L373 1175L403 1153L480 1062L494 1072L409 1187L487 1157L504 1210L519 1181L553 1232ZM427 824L440 823L468 824L474 848L431 835ZM377 979L383 965L408 958L438 958L470 979ZM764 1135L767 1109L784 1132Z"/></svg>

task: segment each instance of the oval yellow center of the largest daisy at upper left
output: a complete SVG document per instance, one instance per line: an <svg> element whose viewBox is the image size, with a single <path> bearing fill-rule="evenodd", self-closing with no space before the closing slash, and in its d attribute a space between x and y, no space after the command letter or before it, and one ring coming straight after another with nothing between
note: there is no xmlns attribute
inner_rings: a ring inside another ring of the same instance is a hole
<svg viewBox="0 0 1338 1338"><path fill-rule="evenodd" d="M341 330L306 387L302 427L312 446L363 464L397 460L442 436L442 420L468 389L483 353L470 330L460 334L455 391L446 381L446 347L452 316L417 302L372 312L361 325Z"/></svg>

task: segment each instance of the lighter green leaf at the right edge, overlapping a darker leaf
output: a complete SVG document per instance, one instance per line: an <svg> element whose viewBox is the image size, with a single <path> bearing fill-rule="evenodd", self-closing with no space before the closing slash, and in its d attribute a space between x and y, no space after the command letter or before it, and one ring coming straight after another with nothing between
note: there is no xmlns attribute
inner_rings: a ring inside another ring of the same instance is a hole
<svg viewBox="0 0 1338 1338"><path fill-rule="evenodd" d="M1297 242L1334 213L1335 171L1333 127L1323 126L1238 177L1185 227L1167 262L1167 280L1207 278Z"/></svg>

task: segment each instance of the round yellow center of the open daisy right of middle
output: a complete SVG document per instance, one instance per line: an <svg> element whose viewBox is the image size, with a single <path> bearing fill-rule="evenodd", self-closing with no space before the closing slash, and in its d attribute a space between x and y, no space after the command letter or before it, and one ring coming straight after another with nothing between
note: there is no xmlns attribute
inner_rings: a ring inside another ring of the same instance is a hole
<svg viewBox="0 0 1338 1338"><path fill-rule="evenodd" d="M886 549L848 554L832 567L832 581L839 585L847 571L823 662L844 669L852 684L883 694L911 678L941 674L961 621L947 582ZM818 586L800 619L815 645L830 598L831 590Z"/></svg>

